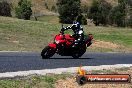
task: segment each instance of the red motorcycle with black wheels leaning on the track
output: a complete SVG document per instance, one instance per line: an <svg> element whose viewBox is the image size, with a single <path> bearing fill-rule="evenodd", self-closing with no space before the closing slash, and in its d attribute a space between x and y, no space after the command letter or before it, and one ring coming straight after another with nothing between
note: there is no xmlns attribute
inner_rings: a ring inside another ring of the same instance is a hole
<svg viewBox="0 0 132 88"><path fill-rule="evenodd" d="M62 26L60 33L55 36L54 42L50 43L42 50L41 56L43 59L46 59L57 53L61 56L79 58L86 52L87 47L92 44L92 39L92 34L89 34L85 36L84 40L78 44L77 47L72 47L75 37L69 34L64 34L64 27Z"/></svg>

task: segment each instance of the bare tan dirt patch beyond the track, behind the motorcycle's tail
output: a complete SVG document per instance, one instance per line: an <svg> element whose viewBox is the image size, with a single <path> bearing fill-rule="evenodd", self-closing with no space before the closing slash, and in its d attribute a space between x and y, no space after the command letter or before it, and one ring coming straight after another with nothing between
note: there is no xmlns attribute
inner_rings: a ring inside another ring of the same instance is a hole
<svg viewBox="0 0 132 88"><path fill-rule="evenodd" d="M93 40L93 43L89 48L91 51L96 52L123 52L123 53L132 52L132 49L129 47L102 40Z"/></svg>

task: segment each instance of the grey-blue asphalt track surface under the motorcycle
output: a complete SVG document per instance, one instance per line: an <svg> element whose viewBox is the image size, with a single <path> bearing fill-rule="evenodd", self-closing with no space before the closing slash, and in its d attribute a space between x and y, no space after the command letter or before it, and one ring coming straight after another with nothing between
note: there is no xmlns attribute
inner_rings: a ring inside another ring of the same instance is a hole
<svg viewBox="0 0 132 88"><path fill-rule="evenodd" d="M132 53L86 53L79 59L54 55L41 59L40 53L0 52L0 73L115 64L132 64Z"/></svg>

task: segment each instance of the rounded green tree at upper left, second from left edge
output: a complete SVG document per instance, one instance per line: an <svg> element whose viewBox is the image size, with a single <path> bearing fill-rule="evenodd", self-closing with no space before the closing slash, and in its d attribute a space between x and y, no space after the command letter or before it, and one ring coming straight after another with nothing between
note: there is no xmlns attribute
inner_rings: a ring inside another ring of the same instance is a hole
<svg viewBox="0 0 132 88"><path fill-rule="evenodd" d="M19 19L30 20L32 15L31 2L28 0L20 0L18 7L15 8L16 17Z"/></svg>

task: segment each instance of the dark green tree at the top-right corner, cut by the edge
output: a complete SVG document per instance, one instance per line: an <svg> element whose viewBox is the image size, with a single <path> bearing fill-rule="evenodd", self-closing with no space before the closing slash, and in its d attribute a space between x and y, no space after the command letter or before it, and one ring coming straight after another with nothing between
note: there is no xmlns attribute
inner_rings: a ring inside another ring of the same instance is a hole
<svg viewBox="0 0 132 88"><path fill-rule="evenodd" d="M131 23L131 0L118 0L118 5L113 7L110 14L111 24L126 27Z"/></svg>

